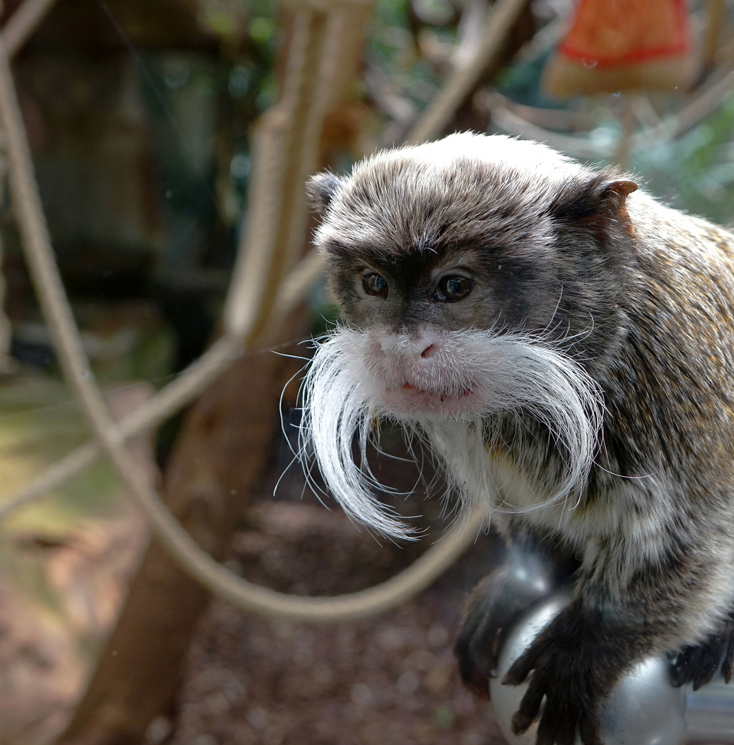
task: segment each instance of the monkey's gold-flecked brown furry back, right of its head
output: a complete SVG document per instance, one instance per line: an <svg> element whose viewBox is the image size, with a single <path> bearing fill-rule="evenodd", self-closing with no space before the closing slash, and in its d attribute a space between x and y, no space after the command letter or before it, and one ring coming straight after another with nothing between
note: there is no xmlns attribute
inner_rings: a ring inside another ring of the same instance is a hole
<svg viewBox="0 0 734 745"><path fill-rule="evenodd" d="M627 330L600 381L604 466L625 478L655 474L706 514L728 510L734 235L644 193L631 194L628 212L635 257L620 302Z"/></svg>

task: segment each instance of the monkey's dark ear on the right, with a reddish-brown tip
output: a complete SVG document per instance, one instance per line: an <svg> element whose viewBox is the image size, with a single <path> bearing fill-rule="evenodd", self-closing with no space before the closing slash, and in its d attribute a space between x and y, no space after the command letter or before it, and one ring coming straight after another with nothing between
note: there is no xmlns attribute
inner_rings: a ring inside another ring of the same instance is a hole
<svg viewBox="0 0 734 745"><path fill-rule="evenodd" d="M561 221L601 221L622 217L629 219L625 210L628 195L637 184L613 171L601 171L591 180L568 183L551 203L551 214Z"/></svg>

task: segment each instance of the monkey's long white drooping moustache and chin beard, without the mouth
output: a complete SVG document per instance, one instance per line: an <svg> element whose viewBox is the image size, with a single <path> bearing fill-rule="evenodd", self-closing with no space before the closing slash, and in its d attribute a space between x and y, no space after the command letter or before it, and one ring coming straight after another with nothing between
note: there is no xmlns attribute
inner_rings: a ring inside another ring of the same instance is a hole
<svg viewBox="0 0 734 745"><path fill-rule="evenodd" d="M564 454L564 472L536 507L578 495L599 446L599 386L557 343L522 334L467 330L447 332L444 351L453 359L447 385L471 386L481 401L452 418L396 415L386 408L386 381L375 375L368 334L338 329L319 343L303 384L299 457L316 460L326 486L344 510L381 533L410 537L412 530L374 495L383 489L367 465L367 446L382 418L418 429L444 468L462 504L487 504L500 484L485 443L499 414L531 416L548 429ZM353 455L354 436L360 463ZM532 507L526 508L532 509Z"/></svg>

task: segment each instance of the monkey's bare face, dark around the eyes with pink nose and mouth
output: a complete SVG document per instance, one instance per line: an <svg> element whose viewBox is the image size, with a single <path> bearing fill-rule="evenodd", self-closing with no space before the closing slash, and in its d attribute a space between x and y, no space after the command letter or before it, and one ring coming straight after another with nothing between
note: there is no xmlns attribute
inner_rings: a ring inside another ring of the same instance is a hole
<svg viewBox="0 0 734 745"><path fill-rule="evenodd" d="M335 262L342 317L361 329L366 373L398 417L465 416L482 408L488 378L480 344L463 329L491 317L494 295L471 256L415 252ZM480 322L481 323L481 322Z"/></svg>

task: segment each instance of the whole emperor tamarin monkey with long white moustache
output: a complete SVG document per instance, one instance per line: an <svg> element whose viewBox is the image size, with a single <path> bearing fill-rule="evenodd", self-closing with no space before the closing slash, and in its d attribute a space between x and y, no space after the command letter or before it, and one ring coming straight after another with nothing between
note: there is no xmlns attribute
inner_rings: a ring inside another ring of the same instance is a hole
<svg viewBox="0 0 734 745"><path fill-rule="evenodd" d="M573 583L505 678L530 679L517 732L542 711L541 745L600 743L600 704L651 653L679 684L721 659L728 679L734 235L504 136L386 150L308 188L343 320L304 405L331 492L377 530L409 530L352 451L397 420L465 504ZM457 643L478 691L518 610L502 581L475 589Z"/></svg>

